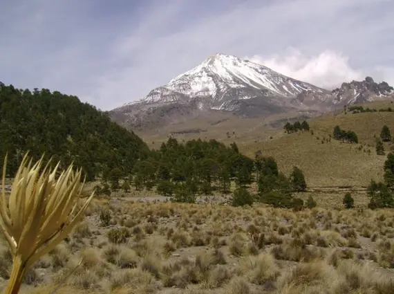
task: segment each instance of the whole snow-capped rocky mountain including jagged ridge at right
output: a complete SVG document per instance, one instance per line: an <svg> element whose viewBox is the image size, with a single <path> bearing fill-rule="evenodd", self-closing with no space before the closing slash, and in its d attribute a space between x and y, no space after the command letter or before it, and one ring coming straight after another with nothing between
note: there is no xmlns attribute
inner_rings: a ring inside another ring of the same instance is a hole
<svg viewBox="0 0 394 294"><path fill-rule="evenodd" d="M371 77L328 91L246 59L216 54L146 97L109 114L124 127L144 129L210 116L217 111L241 117L290 111L313 115L344 104L388 98L393 93L386 82L377 84Z"/></svg>

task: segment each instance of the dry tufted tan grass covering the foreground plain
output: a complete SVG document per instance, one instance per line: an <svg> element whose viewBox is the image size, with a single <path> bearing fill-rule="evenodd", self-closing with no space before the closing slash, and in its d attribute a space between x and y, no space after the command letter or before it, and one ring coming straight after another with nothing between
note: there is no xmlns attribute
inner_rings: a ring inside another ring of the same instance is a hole
<svg viewBox="0 0 394 294"><path fill-rule="evenodd" d="M58 293L392 291L392 210L292 212L127 201L106 207L133 226L103 228L97 210L35 264L22 293L50 293L71 271ZM113 244L110 230L129 230L131 236ZM149 233L136 237L144 230ZM11 260L1 248L0 275L7 279Z"/></svg>

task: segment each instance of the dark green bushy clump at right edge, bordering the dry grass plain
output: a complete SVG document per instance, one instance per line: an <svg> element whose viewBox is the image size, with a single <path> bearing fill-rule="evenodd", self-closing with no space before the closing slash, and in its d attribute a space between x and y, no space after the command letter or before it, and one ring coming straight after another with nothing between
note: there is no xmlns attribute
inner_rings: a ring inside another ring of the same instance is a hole
<svg viewBox="0 0 394 294"><path fill-rule="evenodd" d="M393 208L394 199L391 190L384 183L376 183L370 181L368 186L368 197L370 199L368 207L370 209L375 208Z"/></svg>

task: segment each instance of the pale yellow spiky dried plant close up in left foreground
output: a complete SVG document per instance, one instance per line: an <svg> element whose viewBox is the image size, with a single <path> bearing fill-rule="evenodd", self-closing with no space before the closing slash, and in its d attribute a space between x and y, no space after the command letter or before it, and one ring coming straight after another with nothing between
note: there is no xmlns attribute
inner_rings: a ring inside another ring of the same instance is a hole
<svg viewBox="0 0 394 294"><path fill-rule="evenodd" d="M84 183L82 170L70 165L57 178L59 163L54 169L49 163L42 169L41 158L35 165L27 154L6 197L6 161L3 166L0 197L0 228L13 256L12 272L6 294L16 294L28 268L46 254L73 229L93 199L94 192L78 208Z"/></svg>

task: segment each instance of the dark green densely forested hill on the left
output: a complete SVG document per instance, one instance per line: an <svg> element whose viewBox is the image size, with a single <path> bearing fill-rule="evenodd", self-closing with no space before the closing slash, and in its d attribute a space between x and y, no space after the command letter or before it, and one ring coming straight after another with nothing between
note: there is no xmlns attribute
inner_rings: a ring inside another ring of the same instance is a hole
<svg viewBox="0 0 394 294"><path fill-rule="evenodd" d="M75 96L0 83L0 166L8 152L7 176L15 174L26 151L33 161L45 152L53 164L61 160L61 168L73 161L87 181L115 167L126 176L138 158L149 154L133 132Z"/></svg>

